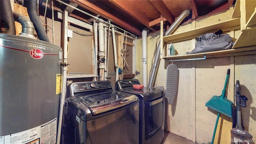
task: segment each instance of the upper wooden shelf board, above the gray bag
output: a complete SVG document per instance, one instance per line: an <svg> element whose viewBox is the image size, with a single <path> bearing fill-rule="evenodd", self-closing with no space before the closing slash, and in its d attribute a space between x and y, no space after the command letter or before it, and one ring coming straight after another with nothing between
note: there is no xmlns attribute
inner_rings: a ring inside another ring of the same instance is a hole
<svg viewBox="0 0 256 144"><path fill-rule="evenodd" d="M210 25L210 26L204 26L204 27L196 28L194 30L189 30L186 32L164 36L163 39L164 39L164 42L168 42L168 43L178 42L182 40L196 38L198 36L201 36L202 34L205 34L211 31L218 31L220 29L230 28L230 27L239 26L239 25L240 25L240 18L233 18L230 20L226 20L223 22Z"/></svg>

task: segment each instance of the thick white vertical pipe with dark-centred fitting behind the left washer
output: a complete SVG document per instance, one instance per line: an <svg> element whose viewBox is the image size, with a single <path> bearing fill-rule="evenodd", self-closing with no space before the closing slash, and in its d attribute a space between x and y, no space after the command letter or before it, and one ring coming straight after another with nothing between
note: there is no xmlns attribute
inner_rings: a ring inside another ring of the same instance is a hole
<svg viewBox="0 0 256 144"><path fill-rule="evenodd" d="M98 21L98 32L99 32L99 69L100 69L100 80L104 80L105 71L105 48L104 48L104 26L101 20Z"/></svg>

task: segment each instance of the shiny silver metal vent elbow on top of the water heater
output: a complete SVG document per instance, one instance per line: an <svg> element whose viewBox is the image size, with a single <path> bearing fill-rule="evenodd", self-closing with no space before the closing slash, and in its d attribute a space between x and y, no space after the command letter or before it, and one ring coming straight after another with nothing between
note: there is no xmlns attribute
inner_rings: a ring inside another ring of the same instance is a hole
<svg viewBox="0 0 256 144"><path fill-rule="evenodd" d="M23 14L20 14L18 12L13 11L12 12L14 20L16 22L19 22L22 26L22 32L20 35L29 36L31 38L36 38L34 36L35 28L33 26L33 23L30 21L30 19Z"/></svg>

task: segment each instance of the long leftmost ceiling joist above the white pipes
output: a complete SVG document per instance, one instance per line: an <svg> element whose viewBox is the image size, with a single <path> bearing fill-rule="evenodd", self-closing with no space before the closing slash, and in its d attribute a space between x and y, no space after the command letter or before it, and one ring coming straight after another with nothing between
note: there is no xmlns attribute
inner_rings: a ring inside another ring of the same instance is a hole
<svg viewBox="0 0 256 144"><path fill-rule="evenodd" d="M91 12L94 12L106 19L111 20L112 22L114 22L115 24L118 24L119 26L122 26L123 28L131 30L131 32L134 32L135 34L141 35L141 30L138 30L131 24L128 24L123 20L120 20L120 18L117 17L118 14L114 15L109 13L112 10L107 6L105 6L104 8L101 8L98 5L94 4L93 1L90 1L90 0L71 0L71 1L76 2L79 6L82 6L83 8L90 10Z"/></svg>

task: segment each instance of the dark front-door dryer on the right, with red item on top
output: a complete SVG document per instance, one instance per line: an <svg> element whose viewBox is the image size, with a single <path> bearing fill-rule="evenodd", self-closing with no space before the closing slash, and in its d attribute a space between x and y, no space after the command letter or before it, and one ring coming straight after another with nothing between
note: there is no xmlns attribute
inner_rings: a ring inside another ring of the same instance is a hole
<svg viewBox="0 0 256 144"><path fill-rule="evenodd" d="M116 81L115 90L134 94L140 99L139 144L161 144L164 138L164 91L144 87L136 90L136 79Z"/></svg>

